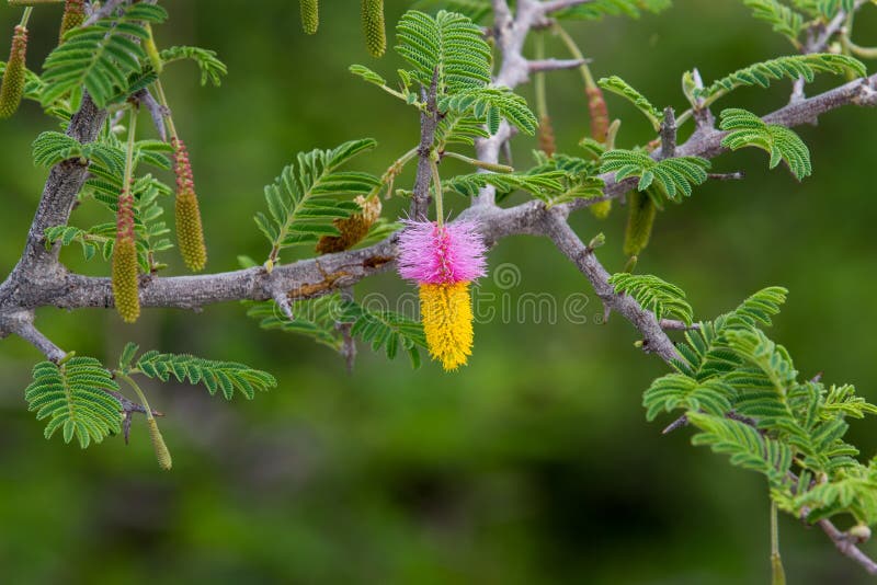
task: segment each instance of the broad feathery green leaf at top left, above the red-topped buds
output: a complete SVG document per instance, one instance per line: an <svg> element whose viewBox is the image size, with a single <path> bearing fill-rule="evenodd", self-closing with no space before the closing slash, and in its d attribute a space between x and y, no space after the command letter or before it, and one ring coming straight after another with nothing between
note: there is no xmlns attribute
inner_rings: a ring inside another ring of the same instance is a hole
<svg viewBox="0 0 877 585"><path fill-rule="evenodd" d="M84 87L98 106L103 107L117 92L128 88L128 76L140 71L146 51L134 38L148 37L146 23L160 23L168 13L146 2L126 4L123 12L77 27L46 58L45 88L41 99L52 104L72 90Z"/></svg>

